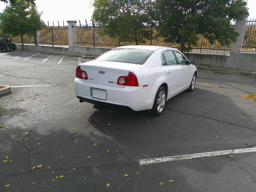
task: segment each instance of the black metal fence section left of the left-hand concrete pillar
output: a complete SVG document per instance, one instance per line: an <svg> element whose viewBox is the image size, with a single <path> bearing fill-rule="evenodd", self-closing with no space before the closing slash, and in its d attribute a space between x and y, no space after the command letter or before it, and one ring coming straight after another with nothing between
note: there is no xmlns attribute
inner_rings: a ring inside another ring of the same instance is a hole
<svg viewBox="0 0 256 192"><path fill-rule="evenodd" d="M20 36L12 37L13 42L21 44ZM34 35L23 35L24 44L67 46L68 27L47 27L39 29Z"/></svg>

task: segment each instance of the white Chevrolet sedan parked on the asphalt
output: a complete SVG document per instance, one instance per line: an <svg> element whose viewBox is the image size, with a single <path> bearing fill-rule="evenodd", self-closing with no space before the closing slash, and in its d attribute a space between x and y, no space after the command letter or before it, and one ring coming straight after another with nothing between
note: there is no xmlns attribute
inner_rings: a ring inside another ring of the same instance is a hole
<svg viewBox="0 0 256 192"><path fill-rule="evenodd" d="M159 116L167 100L194 90L194 63L170 47L118 47L77 66L76 97L80 102L150 110Z"/></svg>

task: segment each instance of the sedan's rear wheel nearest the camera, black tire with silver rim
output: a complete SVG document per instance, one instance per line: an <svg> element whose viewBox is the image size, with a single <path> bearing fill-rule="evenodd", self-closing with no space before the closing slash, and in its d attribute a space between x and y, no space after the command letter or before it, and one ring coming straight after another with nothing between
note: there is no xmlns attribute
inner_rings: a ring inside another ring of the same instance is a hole
<svg viewBox="0 0 256 192"><path fill-rule="evenodd" d="M166 103L166 90L164 87L160 87L156 92L156 97L152 109L148 112L154 116L160 116L164 112Z"/></svg>

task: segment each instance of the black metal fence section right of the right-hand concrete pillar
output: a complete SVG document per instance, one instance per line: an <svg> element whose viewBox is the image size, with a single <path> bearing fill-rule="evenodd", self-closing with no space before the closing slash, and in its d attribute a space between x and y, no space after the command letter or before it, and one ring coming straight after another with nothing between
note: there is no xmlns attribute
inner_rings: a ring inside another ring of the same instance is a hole
<svg viewBox="0 0 256 192"><path fill-rule="evenodd" d="M256 52L256 18L247 19L242 51Z"/></svg>

